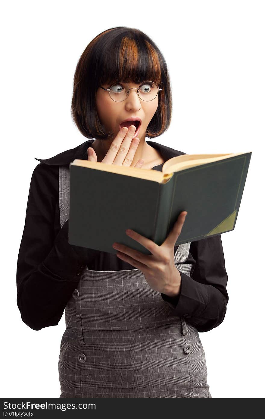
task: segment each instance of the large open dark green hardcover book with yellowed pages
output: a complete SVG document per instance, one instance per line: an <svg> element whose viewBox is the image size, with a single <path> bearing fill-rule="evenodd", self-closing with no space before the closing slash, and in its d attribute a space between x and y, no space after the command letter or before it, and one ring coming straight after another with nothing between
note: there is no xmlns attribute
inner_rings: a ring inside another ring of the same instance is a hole
<svg viewBox="0 0 265 419"><path fill-rule="evenodd" d="M176 246L234 230L251 152L185 154L162 172L75 159L69 165L69 243L116 253L113 242L150 252L130 228L161 245L187 211Z"/></svg>

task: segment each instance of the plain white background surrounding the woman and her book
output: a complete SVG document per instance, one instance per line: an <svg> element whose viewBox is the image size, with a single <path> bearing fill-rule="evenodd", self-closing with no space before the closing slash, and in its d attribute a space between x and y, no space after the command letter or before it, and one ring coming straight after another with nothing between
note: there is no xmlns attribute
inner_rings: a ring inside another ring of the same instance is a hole
<svg viewBox="0 0 265 419"><path fill-rule="evenodd" d="M70 116L75 66L87 44L114 26L145 32L167 62L172 123L157 142L188 154L252 151L237 225L221 235L226 316L199 336L213 398L264 397L264 5L211 0L2 6L2 397L61 393L64 316L58 326L40 331L23 323L16 305L17 257L31 175L39 164L34 157L49 158L86 141Z"/></svg>

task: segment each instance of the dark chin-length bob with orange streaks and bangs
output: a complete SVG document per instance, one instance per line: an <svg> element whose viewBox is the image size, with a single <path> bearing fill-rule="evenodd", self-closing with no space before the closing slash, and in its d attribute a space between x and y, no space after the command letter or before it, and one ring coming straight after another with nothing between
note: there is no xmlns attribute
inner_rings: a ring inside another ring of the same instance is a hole
<svg viewBox="0 0 265 419"><path fill-rule="evenodd" d="M142 31L126 26L107 29L87 45L74 75L71 116L87 138L108 139L100 124L95 98L100 85L124 81L140 84L151 80L162 88L157 110L146 135L158 137L167 130L172 115L170 79L165 59L157 45Z"/></svg>

